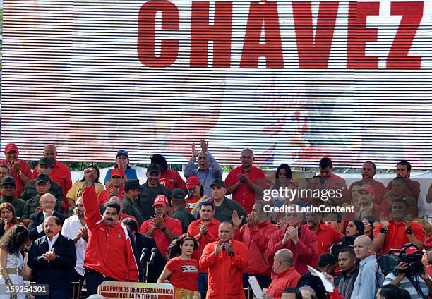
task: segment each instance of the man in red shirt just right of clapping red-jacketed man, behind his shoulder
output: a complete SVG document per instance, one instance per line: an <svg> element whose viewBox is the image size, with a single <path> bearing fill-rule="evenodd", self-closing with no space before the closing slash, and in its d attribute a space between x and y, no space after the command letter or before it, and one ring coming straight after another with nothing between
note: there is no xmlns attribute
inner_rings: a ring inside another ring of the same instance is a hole
<svg viewBox="0 0 432 299"><path fill-rule="evenodd" d="M332 226L326 226L321 222L321 214L308 212L306 213L306 224L305 228L313 231L318 238L318 255L315 260L312 261L311 266L316 268L318 265L318 258L323 253L328 253L331 245L340 242L340 233L332 228Z"/></svg>

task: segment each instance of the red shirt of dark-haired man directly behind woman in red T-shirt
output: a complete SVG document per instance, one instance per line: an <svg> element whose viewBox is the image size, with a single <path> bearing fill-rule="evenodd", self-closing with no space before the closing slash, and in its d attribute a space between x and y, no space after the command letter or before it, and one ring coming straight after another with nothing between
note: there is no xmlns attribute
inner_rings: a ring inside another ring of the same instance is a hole
<svg viewBox="0 0 432 299"><path fill-rule="evenodd" d="M203 250L205 245L208 243L215 242L217 238L219 238L219 225L220 221L212 218L210 223L207 225L207 235L202 236L198 240L198 234L200 233L199 224L203 222L202 219L198 219L196 221L191 222L188 227L188 234L193 236L195 240L198 242L198 249L193 250L192 258L196 260L200 260L201 255L203 255ZM201 273L207 273L207 269L200 269Z"/></svg>

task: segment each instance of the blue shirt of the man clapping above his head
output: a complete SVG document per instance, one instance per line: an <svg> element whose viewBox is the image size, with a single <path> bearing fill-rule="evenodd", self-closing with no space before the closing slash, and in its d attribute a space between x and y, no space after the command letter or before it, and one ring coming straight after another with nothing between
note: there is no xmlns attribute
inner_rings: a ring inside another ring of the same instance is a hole
<svg viewBox="0 0 432 299"><path fill-rule="evenodd" d="M204 188L204 194L208 197L211 197L210 193L210 184L215 181L215 178L221 178L222 179L222 169L220 168L219 164L213 158L212 154L208 152L205 154L205 157L207 158L209 169L202 171L200 169L195 169L195 159L196 157L192 157L188 164L184 167L184 177L187 179L189 176L196 176L200 179L201 185L203 185Z"/></svg>

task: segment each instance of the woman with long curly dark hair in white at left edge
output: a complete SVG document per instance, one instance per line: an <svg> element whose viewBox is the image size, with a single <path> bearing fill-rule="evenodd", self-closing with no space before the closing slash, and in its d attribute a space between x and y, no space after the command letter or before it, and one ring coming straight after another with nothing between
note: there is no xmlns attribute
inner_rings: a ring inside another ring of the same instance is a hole
<svg viewBox="0 0 432 299"><path fill-rule="evenodd" d="M0 239L0 285L4 285L4 290L11 286L24 286L24 279L30 279L32 270L27 266L27 255L23 258L21 254L21 250L30 247L28 235L28 229L18 224L6 231ZM0 295L0 298L24 299L32 296L25 293L7 293Z"/></svg>

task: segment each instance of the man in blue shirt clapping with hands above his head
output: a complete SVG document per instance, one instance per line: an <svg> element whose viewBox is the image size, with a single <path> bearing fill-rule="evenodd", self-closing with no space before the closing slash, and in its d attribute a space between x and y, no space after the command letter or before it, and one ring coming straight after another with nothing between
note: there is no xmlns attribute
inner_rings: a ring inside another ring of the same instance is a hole
<svg viewBox="0 0 432 299"><path fill-rule="evenodd" d="M210 196L210 184L215 181L215 178L222 179L222 169L212 154L208 152L208 143L205 140L200 140L201 152L198 154L195 143L192 143L192 157L184 168L185 178L196 176L203 185L204 194ZM195 160L198 157L198 169L195 169ZM186 181L186 184L188 182ZM188 187L190 188L190 187Z"/></svg>

